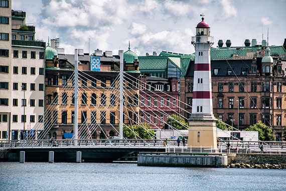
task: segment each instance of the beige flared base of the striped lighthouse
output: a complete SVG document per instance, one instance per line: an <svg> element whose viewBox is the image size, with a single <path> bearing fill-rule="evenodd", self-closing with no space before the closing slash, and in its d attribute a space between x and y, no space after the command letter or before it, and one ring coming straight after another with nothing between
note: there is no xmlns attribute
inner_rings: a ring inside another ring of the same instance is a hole
<svg viewBox="0 0 286 191"><path fill-rule="evenodd" d="M216 119L213 114L192 114L188 146L217 149Z"/></svg>

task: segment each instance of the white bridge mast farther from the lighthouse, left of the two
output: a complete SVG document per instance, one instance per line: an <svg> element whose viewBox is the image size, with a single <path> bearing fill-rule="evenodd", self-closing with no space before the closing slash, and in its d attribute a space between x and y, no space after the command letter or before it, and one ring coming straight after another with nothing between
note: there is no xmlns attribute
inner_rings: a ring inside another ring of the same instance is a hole
<svg viewBox="0 0 286 191"><path fill-rule="evenodd" d="M77 146L77 130L78 130L78 97L77 97L77 83L78 83L78 49L74 50L74 127L73 138L74 146Z"/></svg>

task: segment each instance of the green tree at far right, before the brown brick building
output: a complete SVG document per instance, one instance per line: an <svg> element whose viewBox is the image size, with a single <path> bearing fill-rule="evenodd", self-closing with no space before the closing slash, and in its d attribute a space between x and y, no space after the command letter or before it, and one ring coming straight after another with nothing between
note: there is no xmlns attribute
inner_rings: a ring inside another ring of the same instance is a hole
<svg viewBox="0 0 286 191"><path fill-rule="evenodd" d="M273 141L275 136L272 134L272 129L258 121L255 125L250 125L244 131L258 131L258 139L260 141Z"/></svg>

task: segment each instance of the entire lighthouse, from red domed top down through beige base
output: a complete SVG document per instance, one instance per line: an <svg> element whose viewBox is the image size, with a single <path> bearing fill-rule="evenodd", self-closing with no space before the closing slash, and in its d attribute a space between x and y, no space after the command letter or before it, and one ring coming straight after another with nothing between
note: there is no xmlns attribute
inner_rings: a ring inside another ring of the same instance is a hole
<svg viewBox="0 0 286 191"><path fill-rule="evenodd" d="M192 37L195 47L194 89L192 115L189 119L189 141L192 147L216 148L216 126L212 104L212 80L210 48L214 38L210 27L204 21L196 27L196 36Z"/></svg>

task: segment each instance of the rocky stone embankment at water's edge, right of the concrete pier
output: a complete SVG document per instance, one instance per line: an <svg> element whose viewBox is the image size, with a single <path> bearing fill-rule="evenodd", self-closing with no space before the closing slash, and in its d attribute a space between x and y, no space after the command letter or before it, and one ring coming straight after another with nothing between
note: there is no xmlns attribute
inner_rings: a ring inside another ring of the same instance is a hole
<svg viewBox="0 0 286 191"><path fill-rule="evenodd" d="M286 154L236 154L230 164L286 164Z"/></svg>

